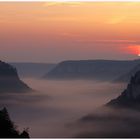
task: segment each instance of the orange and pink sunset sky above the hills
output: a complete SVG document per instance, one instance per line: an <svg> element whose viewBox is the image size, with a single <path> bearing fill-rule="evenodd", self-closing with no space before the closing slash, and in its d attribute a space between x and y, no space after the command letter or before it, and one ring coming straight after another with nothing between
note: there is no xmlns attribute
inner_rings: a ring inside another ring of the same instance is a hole
<svg viewBox="0 0 140 140"><path fill-rule="evenodd" d="M0 59L138 59L140 2L0 2Z"/></svg>

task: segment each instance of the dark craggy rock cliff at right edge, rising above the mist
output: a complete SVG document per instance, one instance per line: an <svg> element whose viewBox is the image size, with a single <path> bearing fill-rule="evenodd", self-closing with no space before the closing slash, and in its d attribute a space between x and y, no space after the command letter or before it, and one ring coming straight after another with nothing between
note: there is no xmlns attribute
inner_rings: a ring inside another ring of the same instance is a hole
<svg viewBox="0 0 140 140"><path fill-rule="evenodd" d="M127 88L121 93L121 95L118 98L111 100L107 106L140 107L140 71L136 72L136 74L131 77Z"/></svg>

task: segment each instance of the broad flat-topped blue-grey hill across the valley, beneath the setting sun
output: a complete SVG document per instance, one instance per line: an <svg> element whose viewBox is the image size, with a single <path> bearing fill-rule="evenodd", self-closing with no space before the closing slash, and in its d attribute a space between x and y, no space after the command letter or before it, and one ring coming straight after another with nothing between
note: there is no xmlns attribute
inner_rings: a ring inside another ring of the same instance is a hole
<svg viewBox="0 0 140 140"><path fill-rule="evenodd" d="M50 70L46 79L94 79L112 81L128 73L140 60L81 60L63 61Z"/></svg>

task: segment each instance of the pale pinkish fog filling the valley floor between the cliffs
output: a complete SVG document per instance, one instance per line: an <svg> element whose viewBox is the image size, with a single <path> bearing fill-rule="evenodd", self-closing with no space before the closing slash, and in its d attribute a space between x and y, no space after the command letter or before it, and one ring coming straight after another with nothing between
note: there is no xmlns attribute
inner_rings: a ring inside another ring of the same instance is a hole
<svg viewBox="0 0 140 140"><path fill-rule="evenodd" d="M98 110L117 97L125 84L87 80L23 79L34 93L0 95L0 106L8 108L11 119L32 138L74 137L69 127L79 118Z"/></svg>

